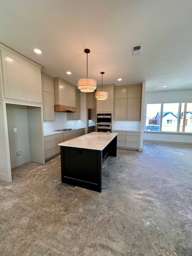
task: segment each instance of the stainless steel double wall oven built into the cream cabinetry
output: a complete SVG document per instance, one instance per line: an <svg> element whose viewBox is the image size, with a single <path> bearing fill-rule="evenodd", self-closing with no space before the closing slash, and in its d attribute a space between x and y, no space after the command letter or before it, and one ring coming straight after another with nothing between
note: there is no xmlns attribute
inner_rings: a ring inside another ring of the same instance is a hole
<svg viewBox="0 0 192 256"><path fill-rule="evenodd" d="M97 113L97 131L112 132L112 113Z"/></svg>

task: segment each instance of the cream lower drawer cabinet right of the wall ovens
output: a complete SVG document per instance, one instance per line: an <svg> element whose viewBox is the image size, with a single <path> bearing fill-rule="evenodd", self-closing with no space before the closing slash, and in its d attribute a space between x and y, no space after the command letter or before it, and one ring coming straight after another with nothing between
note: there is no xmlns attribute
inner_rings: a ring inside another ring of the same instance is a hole
<svg viewBox="0 0 192 256"><path fill-rule="evenodd" d="M138 131L113 131L117 135L117 147L127 149L140 149L140 132Z"/></svg>

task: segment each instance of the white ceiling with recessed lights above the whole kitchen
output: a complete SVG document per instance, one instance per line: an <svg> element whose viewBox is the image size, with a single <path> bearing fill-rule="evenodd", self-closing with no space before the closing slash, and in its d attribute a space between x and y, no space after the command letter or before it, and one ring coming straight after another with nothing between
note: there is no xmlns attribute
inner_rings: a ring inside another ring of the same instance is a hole
<svg viewBox="0 0 192 256"><path fill-rule="evenodd" d="M45 74L75 86L86 77L88 48L88 77L97 85L104 71L103 84L146 81L146 92L189 90L191 13L191 0L6 0L0 41L42 64ZM138 44L142 54L132 56Z"/></svg>

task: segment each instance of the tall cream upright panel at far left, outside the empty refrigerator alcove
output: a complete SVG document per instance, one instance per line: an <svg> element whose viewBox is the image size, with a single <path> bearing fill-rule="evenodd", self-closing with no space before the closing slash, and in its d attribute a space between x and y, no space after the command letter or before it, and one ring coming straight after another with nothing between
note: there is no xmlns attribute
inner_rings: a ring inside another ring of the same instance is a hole
<svg viewBox="0 0 192 256"><path fill-rule="evenodd" d="M7 149L6 139L8 139L8 133L7 135L5 134L3 103L0 102L0 179L11 182L10 162L7 161L9 150Z"/></svg>

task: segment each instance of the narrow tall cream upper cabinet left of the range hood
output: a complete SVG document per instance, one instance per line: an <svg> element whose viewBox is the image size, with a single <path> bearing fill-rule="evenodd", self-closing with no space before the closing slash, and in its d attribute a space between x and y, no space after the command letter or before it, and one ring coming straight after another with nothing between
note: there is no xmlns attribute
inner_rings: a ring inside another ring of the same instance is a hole
<svg viewBox="0 0 192 256"><path fill-rule="evenodd" d="M54 80L52 77L41 73L43 120L55 120L54 111Z"/></svg>

